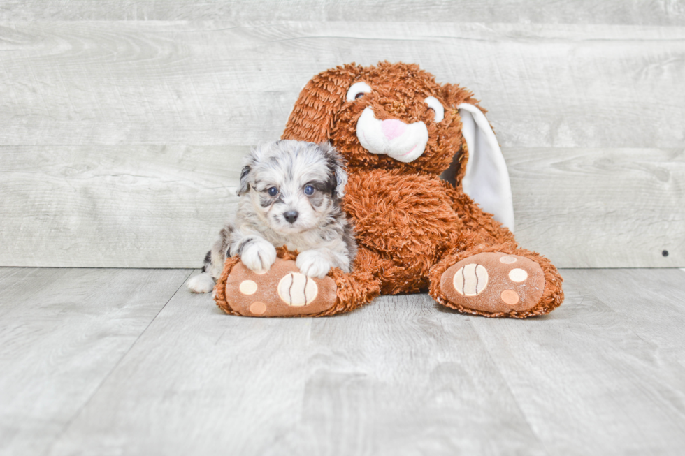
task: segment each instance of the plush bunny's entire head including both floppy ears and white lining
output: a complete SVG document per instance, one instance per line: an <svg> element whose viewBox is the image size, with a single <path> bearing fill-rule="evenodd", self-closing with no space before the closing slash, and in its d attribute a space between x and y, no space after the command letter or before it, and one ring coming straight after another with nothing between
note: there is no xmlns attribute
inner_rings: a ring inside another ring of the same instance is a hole
<svg viewBox="0 0 685 456"><path fill-rule="evenodd" d="M350 168L440 175L454 162L456 184L513 228L509 176L483 110L469 91L438 84L416 64L319 73L302 89L282 139L329 140Z"/></svg>

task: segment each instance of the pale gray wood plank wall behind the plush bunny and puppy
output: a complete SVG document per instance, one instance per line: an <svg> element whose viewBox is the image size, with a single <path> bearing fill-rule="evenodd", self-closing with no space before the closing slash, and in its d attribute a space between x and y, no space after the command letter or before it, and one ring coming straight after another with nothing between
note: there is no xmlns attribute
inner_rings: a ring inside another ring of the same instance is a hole
<svg viewBox="0 0 685 456"><path fill-rule="evenodd" d="M617 0L5 1L0 265L198 266L303 84L383 59L482 100L525 247L685 266L685 2Z"/></svg>

